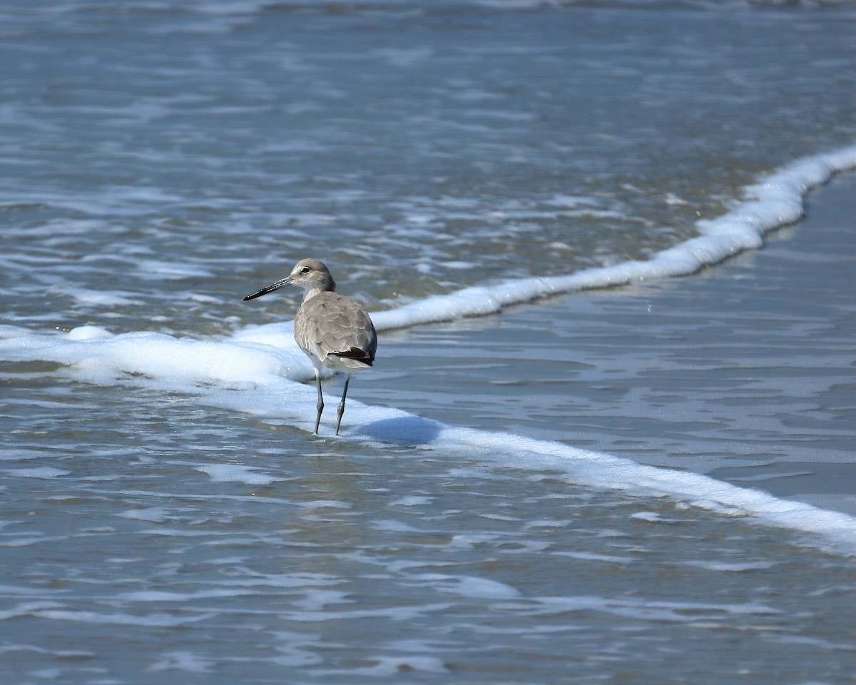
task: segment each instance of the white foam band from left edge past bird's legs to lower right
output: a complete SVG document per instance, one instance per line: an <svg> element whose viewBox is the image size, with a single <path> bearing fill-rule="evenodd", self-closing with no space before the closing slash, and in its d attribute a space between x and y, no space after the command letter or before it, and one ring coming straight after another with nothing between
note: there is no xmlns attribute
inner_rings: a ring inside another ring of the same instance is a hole
<svg viewBox="0 0 856 685"><path fill-rule="evenodd" d="M11 335L15 331L19 335ZM312 431L314 388L284 378L287 365L281 353L257 345L177 340L156 333L113 336L95 326L66 334L0 329L3 359L53 360L66 365L60 372L85 382L130 382L161 392L184 392L205 406L274 422L284 420L290 426ZM751 516L769 525L811 533L818 544L830 550L856 555L856 518L702 474L646 466L510 433L447 426L400 409L372 407L356 400L348 402L348 416L348 425L354 427L346 426L345 440L381 447L405 444L486 465L550 470L579 485L669 497L724 515Z"/></svg>

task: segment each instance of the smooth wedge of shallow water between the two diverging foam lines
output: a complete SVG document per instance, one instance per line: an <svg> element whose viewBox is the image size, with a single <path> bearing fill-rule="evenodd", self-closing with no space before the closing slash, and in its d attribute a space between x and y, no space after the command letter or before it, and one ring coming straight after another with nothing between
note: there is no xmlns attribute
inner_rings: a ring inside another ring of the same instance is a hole
<svg viewBox="0 0 856 685"><path fill-rule="evenodd" d="M838 176L696 276L383 334L351 394L856 514L854 216Z"/></svg>

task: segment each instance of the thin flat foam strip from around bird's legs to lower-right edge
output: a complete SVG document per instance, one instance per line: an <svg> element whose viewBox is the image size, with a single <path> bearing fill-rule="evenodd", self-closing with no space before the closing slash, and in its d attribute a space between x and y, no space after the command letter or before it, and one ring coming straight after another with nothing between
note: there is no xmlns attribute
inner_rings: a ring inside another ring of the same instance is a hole
<svg viewBox="0 0 856 685"><path fill-rule="evenodd" d="M315 391L311 385L270 378L254 390L253 393L208 392L200 396L200 401L259 418L285 419L290 425L312 431ZM602 491L669 497L687 506L808 533L815 544L829 551L856 556L856 518L781 499L755 488L731 485L704 474L647 466L562 443L448 426L401 409L375 407L356 400L349 400L348 416L350 427L346 426L342 438L336 439L377 444L379 449L389 444L407 445L431 450L447 462L549 471L553 478L563 476L568 483Z"/></svg>

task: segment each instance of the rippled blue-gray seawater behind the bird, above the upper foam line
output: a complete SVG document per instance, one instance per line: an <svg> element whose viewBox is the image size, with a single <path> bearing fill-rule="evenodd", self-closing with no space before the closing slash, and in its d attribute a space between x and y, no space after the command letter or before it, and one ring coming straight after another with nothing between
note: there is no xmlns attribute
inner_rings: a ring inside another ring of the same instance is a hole
<svg viewBox="0 0 856 685"><path fill-rule="evenodd" d="M0 47L16 323L231 331L306 256L372 310L645 259L853 141L847 4L28 7Z"/></svg>

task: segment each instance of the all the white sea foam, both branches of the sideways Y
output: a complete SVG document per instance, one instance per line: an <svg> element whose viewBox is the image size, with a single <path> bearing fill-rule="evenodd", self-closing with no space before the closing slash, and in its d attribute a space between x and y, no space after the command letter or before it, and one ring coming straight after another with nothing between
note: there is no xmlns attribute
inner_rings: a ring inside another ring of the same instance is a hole
<svg viewBox="0 0 856 685"><path fill-rule="evenodd" d="M701 235L697 238L657 253L648 261L626 262L568 276L473 286L375 313L372 317L378 329L392 329L495 313L503 305L545 295L693 273L734 253L758 247L766 232L800 218L802 198L810 188L836 171L853 168L856 168L856 146L790 164L747 188L746 200L724 216L699 223ZM181 271L175 275L196 274ZM311 429L315 415L315 390L295 382L311 378L312 366L295 345L290 322L247 327L220 340L193 340L154 332L112 335L99 326L85 326L68 333L5 326L0 327L0 359L50 360L63 365L60 372L89 383L121 384L130 380L157 390L183 391L205 404L275 422L285 421L306 430ZM353 400L348 404L348 416L349 425L355 427L346 430L346 439L424 446L451 457L503 467L550 469L581 485L670 497L727 515L753 516L771 525L811 533L835 549L856 553L853 517L782 500L701 474L649 467L565 444L446 426ZM40 468L15 473L35 478L64 475L56 469ZM270 482L265 474L248 468L206 473L221 480ZM654 515L644 521L654 525L663 522Z"/></svg>

